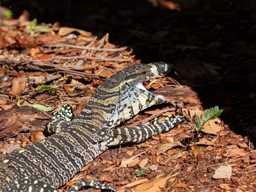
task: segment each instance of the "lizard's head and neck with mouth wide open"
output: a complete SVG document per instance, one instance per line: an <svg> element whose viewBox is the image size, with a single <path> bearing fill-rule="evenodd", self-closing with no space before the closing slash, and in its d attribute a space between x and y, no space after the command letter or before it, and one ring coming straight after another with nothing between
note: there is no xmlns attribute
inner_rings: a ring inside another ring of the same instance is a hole
<svg viewBox="0 0 256 192"><path fill-rule="evenodd" d="M113 74L92 95L92 119L97 120L97 124L115 127L143 109L166 102L162 95L148 92L143 81L157 75L164 76L171 68L172 65L164 62L135 64Z"/></svg>

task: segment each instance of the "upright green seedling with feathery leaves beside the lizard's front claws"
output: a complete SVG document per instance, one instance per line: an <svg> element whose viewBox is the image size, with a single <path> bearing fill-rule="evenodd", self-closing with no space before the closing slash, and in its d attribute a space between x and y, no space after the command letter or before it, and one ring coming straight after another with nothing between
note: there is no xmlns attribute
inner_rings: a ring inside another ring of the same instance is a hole
<svg viewBox="0 0 256 192"><path fill-rule="evenodd" d="M223 109L220 110L218 106L215 106L214 108L206 109L204 111L204 115L200 115L200 116L196 115L196 118L195 118L196 136L195 136L195 143L193 147L195 156L196 156L196 141L198 140L198 138L200 137L200 134L202 133L204 124L207 121L212 120L217 116L219 116L222 113L222 111Z"/></svg>

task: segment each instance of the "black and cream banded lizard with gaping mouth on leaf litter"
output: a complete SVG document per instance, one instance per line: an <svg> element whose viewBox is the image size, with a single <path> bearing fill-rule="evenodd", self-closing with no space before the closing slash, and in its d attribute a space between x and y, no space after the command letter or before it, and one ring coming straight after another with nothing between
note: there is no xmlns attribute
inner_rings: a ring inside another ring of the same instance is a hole
<svg viewBox="0 0 256 192"><path fill-rule="evenodd" d="M109 146L145 141L183 122L184 116L176 116L152 125L115 128L143 109L166 102L163 96L148 92L142 82L167 74L170 68L170 64L158 62L121 70L100 84L81 114L72 121L70 106L63 106L47 124L49 132L55 134L0 159L0 192L58 192L56 188L67 183ZM83 186L115 191L113 186L93 180L78 182L68 192Z"/></svg>

